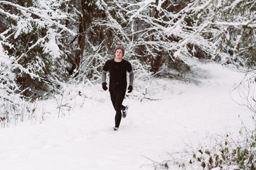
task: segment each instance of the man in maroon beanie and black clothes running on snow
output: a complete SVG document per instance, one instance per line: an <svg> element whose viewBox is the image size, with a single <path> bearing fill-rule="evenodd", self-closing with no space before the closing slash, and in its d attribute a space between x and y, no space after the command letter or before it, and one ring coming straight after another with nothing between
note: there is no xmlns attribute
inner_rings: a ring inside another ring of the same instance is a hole
<svg viewBox="0 0 256 170"><path fill-rule="evenodd" d="M107 90L107 72L110 72L110 98L116 111L114 130L118 130L122 117L125 118L127 115L128 107L122 105L127 89L127 72L129 72L128 93L132 92L134 80L131 63L122 57L124 57L124 47L119 45L114 49L114 59L107 60L102 71L102 89L105 91Z"/></svg>

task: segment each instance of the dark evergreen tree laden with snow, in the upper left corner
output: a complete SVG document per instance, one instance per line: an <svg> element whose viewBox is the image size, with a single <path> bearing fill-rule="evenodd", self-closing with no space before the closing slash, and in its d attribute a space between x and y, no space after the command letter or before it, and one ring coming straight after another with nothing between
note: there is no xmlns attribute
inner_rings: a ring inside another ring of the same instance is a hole
<svg viewBox="0 0 256 170"><path fill-rule="evenodd" d="M65 33L74 35L63 24L71 18L62 8L65 1L15 2L0 1L2 46L9 59L13 58L11 72L20 89L27 89L23 94L42 96L59 86L61 77L53 72L61 68L58 40Z"/></svg>

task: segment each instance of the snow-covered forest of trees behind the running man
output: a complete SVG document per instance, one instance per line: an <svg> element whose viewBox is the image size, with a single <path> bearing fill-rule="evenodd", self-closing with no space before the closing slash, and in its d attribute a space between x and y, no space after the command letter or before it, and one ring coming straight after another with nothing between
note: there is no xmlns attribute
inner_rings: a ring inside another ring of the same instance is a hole
<svg viewBox="0 0 256 170"><path fill-rule="evenodd" d="M256 81L255 0L8 0L0 1L0 18L2 127L67 84L101 84L117 45L142 82L193 83L191 58L245 70Z"/></svg>

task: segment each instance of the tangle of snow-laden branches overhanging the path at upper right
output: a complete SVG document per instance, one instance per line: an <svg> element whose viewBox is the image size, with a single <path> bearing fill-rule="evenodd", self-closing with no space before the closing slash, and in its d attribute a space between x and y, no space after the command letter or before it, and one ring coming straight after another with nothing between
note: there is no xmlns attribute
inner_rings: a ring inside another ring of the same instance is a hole
<svg viewBox="0 0 256 170"><path fill-rule="evenodd" d="M129 17L132 42L153 70L164 63L174 63L171 67L175 68L175 60L186 62L186 57L255 64L255 1L145 0L113 4Z"/></svg>

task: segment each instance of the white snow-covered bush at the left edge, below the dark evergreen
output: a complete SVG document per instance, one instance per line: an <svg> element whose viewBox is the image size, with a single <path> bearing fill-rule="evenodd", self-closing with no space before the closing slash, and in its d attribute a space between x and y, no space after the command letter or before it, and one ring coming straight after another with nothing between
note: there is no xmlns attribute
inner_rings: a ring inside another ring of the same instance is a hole
<svg viewBox="0 0 256 170"><path fill-rule="evenodd" d="M2 43L0 41L0 125L5 128L23 121L30 103L21 98L16 75L12 72L14 58L6 54Z"/></svg>

